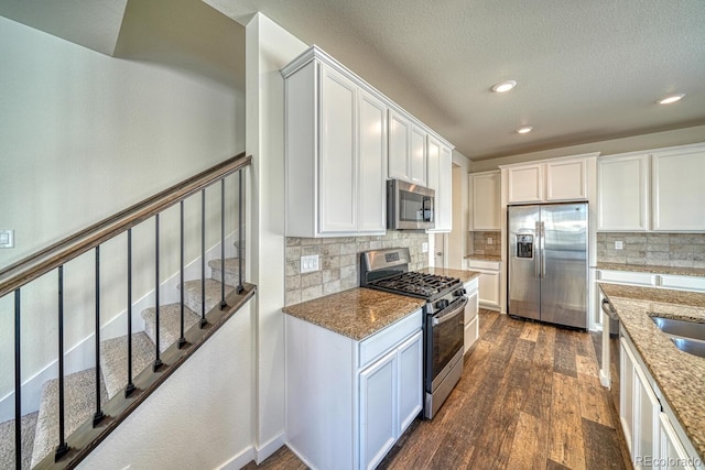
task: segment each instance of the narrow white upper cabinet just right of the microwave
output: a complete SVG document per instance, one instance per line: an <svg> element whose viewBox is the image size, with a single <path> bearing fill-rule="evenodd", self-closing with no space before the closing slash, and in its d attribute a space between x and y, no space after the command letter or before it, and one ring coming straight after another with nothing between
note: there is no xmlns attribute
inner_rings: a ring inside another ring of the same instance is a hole
<svg viewBox="0 0 705 470"><path fill-rule="evenodd" d="M438 139L426 139L429 187L435 190L435 222L433 232L453 229L453 150Z"/></svg>

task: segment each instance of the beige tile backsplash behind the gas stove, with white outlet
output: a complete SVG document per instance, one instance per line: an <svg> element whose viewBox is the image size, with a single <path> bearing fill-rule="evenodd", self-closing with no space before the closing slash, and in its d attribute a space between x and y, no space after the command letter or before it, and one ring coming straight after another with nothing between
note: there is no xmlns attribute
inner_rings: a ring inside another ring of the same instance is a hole
<svg viewBox="0 0 705 470"><path fill-rule="evenodd" d="M357 287L360 284L360 253L382 248L408 247L410 270L429 266L429 253L422 244L429 234L417 231L388 230L379 237L286 238L285 305L299 304L324 295ZM317 254L318 271L301 274L301 256Z"/></svg>

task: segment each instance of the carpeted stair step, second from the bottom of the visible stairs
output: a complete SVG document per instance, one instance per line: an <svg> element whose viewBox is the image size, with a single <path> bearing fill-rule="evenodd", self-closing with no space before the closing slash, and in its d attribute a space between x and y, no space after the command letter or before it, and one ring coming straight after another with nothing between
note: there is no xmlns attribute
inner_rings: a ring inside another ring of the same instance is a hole
<svg viewBox="0 0 705 470"><path fill-rule="evenodd" d="M108 393L102 385L100 401L108 401ZM96 411L96 369L86 369L64 378L64 435L68 437L88 419L93 419ZM54 452L58 446L58 379L44 382L42 401L36 419L36 434L32 452L32 467L44 457Z"/></svg>

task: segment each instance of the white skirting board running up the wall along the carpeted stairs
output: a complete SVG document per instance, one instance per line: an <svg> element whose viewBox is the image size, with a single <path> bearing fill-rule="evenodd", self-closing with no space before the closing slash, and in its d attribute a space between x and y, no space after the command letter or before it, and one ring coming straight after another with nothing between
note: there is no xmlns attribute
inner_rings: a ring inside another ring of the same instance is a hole
<svg viewBox="0 0 705 470"><path fill-rule="evenodd" d="M225 255L232 258L236 255L235 241L237 240L237 231L226 237ZM206 260L220 258L220 242L210 247L206 251ZM206 278L210 277L210 267L206 262ZM200 278L200 256L184 266L185 280ZM174 304L181 300L178 294L178 284L181 275L174 273L160 285L160 304ZM141 298L132 304L132 332L144 330L144 320L142 311L154 306L154 289L144 294ZM119 338L127 335L127 313L122 311L115 315L100 328L100 340ZM96 340L95 334L90 334L75 346L64 352L64 374L68 375L86 369L95 367L96 358ZM42 370L31 378L22 382L22 414L36 412L42 400L42 385L47 380L58 376L58 360L54 360L46 364ZM0 398L0 423L8 419L14 419L14 391L8 393Z"/></svg>

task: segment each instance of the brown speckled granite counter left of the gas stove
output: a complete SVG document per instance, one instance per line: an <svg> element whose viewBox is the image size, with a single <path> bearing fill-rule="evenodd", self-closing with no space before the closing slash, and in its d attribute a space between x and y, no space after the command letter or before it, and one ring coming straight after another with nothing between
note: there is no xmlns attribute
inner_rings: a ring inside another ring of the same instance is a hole
<svg viewBox="0 0 705 470"><path fill-rule="evenodd" d="M357 287L290 305L282 311L359 341L424 304L420 298Z"/></svg>

